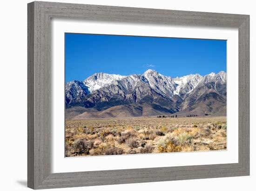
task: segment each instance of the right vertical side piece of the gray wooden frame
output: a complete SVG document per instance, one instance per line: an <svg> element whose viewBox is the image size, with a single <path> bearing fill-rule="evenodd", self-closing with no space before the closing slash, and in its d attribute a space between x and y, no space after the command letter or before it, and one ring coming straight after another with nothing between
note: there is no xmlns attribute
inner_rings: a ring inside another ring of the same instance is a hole
<svg viewBox="0 0 256 191"><path fill-rule="evenodd" d="M243 166L243 170L249 174L250 170L250 136L249 136L249 113L250 113L250 39L249 39L249 17L247 17L238 29L239 40L239 73L238 73L238 111L239 111L239 164Z"/></svg>

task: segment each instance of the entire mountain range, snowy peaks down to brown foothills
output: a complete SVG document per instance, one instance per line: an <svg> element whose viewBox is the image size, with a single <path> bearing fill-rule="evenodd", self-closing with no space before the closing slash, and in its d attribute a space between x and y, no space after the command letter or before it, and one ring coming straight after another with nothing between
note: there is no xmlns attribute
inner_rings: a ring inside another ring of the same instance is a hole
<svg viewBox="0 0 256 191"><path fill-rule="evenodd" d="M65 84L66 118L226 115L227 75L172 78L155 70L121 76L95 73Z"/></svg>

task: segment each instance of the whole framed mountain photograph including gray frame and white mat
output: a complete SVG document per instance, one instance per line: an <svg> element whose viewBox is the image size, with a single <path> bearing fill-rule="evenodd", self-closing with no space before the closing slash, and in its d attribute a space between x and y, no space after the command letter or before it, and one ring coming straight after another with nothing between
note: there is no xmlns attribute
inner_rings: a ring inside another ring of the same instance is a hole
<svg viewBox="0 0 256 191"><path fill-rule="evenodd" d="M249 175L249 15L28 4L28 187Z"/></svg>

